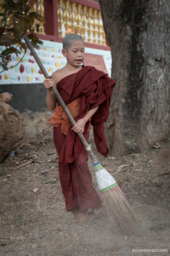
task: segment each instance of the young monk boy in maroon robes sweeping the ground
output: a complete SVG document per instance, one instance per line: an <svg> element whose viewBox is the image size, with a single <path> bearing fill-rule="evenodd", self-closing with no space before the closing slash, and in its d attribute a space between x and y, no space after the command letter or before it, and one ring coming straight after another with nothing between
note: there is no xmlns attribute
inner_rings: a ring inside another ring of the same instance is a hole
<svg viewBox="0 0 170 256"><path fill-rule="evenodd" d="M108 154L103 123L108 118L115 81L92 66L82 65L84 42L79 35L69 34L64 37L62 54L66 57L66 66L55 71L51 79L44 81L47 89L46 104L51 111L55 109L50 124L54 125L53 138L59 156L59 179L66 210L72 211L77 221L86 222L102 210L102 201L93 188L87 164L88 152L77 133L82 133L88 141L92 124L98 151L104 156ZM57 105L52 86L57 86L75 118L74 127L62 107Z"/></svg>

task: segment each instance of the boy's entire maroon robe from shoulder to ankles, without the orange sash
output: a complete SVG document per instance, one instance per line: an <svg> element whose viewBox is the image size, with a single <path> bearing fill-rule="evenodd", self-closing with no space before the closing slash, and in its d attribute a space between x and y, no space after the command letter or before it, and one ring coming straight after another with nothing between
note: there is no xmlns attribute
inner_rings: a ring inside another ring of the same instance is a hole
<svg viewBox="0 0 170 256"><path fill-rule="evenodd" d="M99 106L91 119L95 144L98 151L106 156L108 145L104 136L104 122L108 118L108 109L115 81L92 66L82 66L77 73L64 77L57 83L57 90L66 104L80 98L79 114L86 113ZM88 141L89 132L84 127L84 137ZM59 156L59 179L66 201L66 210L88 210L101 204L100 197L93 188L91 172L88 168L88 153L74 131L68 129L65 136L61 125L54 127L54 142Z"/></svg>

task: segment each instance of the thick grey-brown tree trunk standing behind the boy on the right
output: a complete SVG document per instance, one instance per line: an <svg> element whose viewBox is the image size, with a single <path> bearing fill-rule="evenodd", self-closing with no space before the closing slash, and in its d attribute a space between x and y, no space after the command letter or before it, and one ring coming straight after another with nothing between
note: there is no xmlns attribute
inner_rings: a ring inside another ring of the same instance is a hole
<svg viewBox="0 0 170 256"><path fill-rule="evenodd" d="M139 152L170 131L170 1L100 0L100 6L117 82L106 136L112 154L128 154L133 141Z"/></svg>

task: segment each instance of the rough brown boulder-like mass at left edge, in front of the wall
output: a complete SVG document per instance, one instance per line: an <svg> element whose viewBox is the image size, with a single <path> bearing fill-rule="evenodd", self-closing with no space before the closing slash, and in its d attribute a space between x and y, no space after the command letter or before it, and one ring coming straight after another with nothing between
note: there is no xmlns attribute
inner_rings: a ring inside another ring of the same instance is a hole
<svg viewBox="0 0 170 256"><path fill-rule="evenodd" d="M0 163L26 143L26 127L19 112L6 104L11 97L10 93L0 95Z"/></svg>

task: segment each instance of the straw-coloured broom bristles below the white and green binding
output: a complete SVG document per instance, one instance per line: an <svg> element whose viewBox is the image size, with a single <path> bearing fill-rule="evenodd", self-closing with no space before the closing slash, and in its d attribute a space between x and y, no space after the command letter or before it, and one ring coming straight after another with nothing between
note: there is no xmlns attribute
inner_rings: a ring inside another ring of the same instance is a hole
<svg viewBox="0 0 170 256"><path fill-rule="evenodd" d="M117 232L132 235L138 230L138 219L118 186L116 190L102 193L102 198L111 224Z"/></svg>

